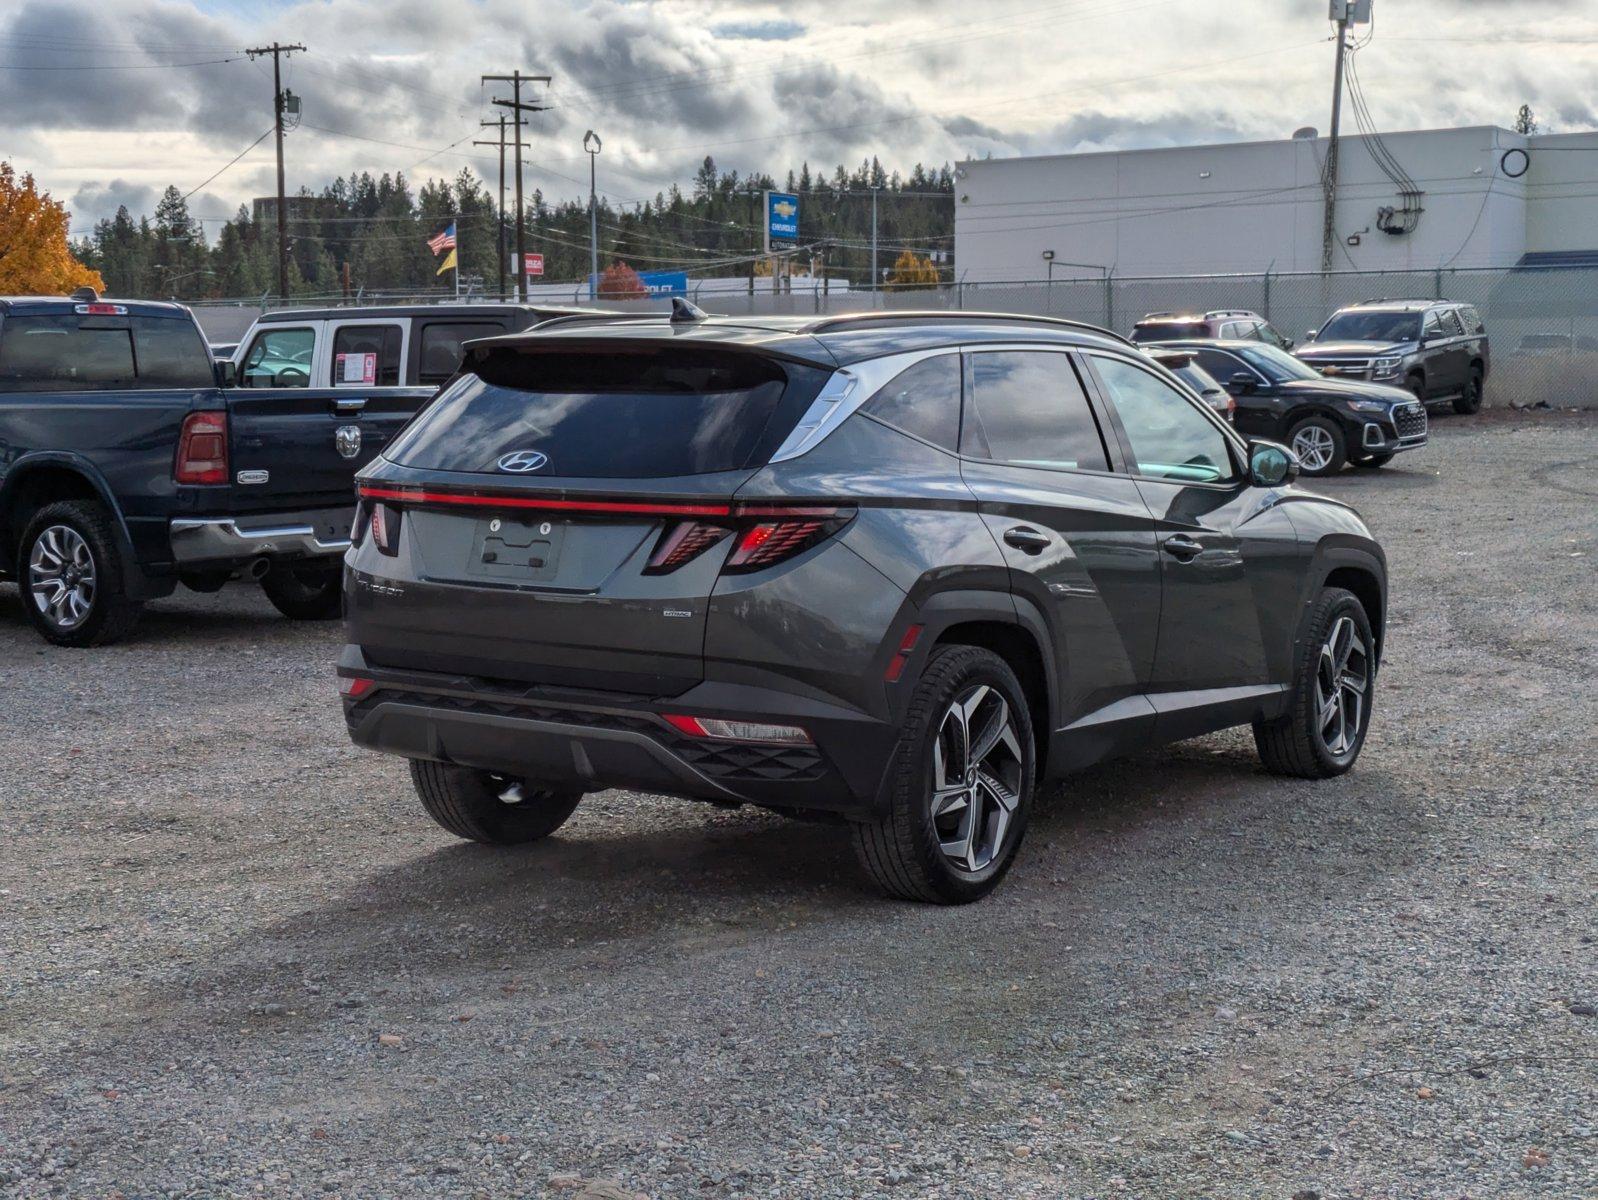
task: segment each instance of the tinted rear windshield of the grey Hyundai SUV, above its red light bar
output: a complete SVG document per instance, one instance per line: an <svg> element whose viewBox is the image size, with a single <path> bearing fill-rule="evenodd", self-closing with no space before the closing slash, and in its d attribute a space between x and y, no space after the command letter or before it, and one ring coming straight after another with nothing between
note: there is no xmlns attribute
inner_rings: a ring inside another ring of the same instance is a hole
<svg viewBox="0 0 1598 1200"><path fill-rule="evenodd" d="M385 452L438 471L647 479L764 463L825 372L721 350L492 352ZM797 375L789 385L789 375ZM513 459L513 467L500 465ZM539 462L537 455L543 455ZM526 470L527 462L539 462ZM523 470L515 470L523 468Z"/></svg>

